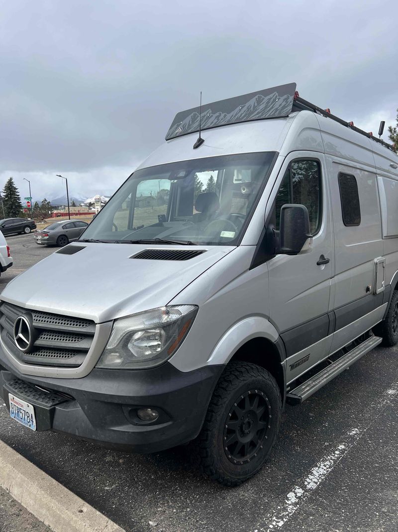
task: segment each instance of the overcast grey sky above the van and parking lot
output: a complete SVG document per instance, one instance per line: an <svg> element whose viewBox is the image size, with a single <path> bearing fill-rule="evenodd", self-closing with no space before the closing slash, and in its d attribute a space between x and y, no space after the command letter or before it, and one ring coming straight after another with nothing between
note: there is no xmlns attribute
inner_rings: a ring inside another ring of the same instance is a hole
<svg viewBox="0 0 398 532"><path fill-rule="evenodd" d="M0 187L111 192L174 115L296 81L356 126L395 125L398 2L0 0ZM383 138L388 140L385 133Z"/></svg>

